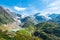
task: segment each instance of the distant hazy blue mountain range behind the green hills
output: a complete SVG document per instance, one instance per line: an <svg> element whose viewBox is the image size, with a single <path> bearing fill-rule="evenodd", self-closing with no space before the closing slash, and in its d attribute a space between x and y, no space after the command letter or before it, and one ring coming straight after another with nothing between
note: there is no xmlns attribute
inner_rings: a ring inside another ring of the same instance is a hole
<svg viewBox="0 0 60 40"><path fill-rule="evenodd" d="M49 20L47 20L45 16L43 15L41 16L40 13L36 13L34 15L30 15L25 18L21 18L22 15L17 15L17 16L20 17L18 20L20 20L22 23L25 23L26 20L29 19L34 24L38 24L46 21L56 22L60 24L60 14L55 14L55 13L48 15L48 17L51 18Z"/></svg>

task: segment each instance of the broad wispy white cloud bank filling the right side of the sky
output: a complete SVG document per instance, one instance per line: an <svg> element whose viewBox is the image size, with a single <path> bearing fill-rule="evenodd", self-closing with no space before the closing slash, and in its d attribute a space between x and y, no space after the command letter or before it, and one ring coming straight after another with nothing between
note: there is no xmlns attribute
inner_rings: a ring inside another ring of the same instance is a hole
<svg viewBox="0 0 60 40"><path fill-rule="evenodd" d="M41 15L48 17L48 14L60 14L60 0L55 0L54 2L47 5L47 8L41 11Z"/></svg>

